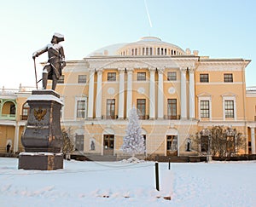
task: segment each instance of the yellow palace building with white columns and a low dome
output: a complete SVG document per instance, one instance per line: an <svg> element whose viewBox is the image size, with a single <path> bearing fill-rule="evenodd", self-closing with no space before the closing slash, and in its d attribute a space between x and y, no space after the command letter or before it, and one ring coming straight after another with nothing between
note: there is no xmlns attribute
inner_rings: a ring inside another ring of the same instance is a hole
<svg viewBox="0 0 256 207"><path fill-rule="evenodd" d="M135 106L147 155L201 152L194 137L205 137L212 126L241 133L244 147L234 153L255 154L256 87L246 87L249 63L201 56L158 37L114 44L67 61L56 87L63 101L61 124L77 152L119 155ZM27 97L26 92L1 95L2 150L8 141L15 152L21 149Z"/></svg>

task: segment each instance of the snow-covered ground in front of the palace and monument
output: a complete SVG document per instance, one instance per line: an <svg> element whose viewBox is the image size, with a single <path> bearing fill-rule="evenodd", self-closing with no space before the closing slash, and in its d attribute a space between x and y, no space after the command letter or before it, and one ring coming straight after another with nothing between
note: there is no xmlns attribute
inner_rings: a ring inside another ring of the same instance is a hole
<svg viewBox="0 0 256 207"><path fill-rule="evenodd" d="M161 180L167 177L160 192L155 190L153 162L72 160L53 171L17 167L18 159L0 158L1 207L256 206L255 161L172 164L172 171L160 163ZM167 194L172 200L162 198Z"/></svg>

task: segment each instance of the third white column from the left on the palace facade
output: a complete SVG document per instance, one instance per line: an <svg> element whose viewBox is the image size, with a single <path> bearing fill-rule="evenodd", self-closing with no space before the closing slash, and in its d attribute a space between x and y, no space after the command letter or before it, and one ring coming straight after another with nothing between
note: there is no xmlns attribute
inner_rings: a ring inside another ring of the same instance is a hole
<svg viewBox="0 0 256 207"><path fill-rule="evenodd" d="M125 68L119 68L119 118L124 118Z"/></svg>

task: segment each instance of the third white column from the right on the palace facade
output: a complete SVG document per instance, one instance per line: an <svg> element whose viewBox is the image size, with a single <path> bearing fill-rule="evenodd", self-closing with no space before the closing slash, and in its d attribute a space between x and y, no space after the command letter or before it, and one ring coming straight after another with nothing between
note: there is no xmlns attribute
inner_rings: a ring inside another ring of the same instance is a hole
<svg viewBox="0 0 256 207"><path fill-rule="evenodd" d="M164 118L164 79L163 79L164 69L158 69L157 71L158 71L157 118L162 119Z"/></svg>

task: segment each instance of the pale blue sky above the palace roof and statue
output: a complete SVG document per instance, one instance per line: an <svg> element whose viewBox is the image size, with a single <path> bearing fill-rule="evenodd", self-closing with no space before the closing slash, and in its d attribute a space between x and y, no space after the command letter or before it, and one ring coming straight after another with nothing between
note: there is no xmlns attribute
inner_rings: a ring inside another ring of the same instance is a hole
<svg viewBox="0 0 256 207"><path fill-rule="evenodd" d="M212 58L252 60L247 86L256 86L256 1L254 0L0 0L0 88L35 86L32 53L54 32L67 60L140 37L160 37ZM47 60L41 55L37 63ZM38 66L38 78L42 68Z"/></svg>

